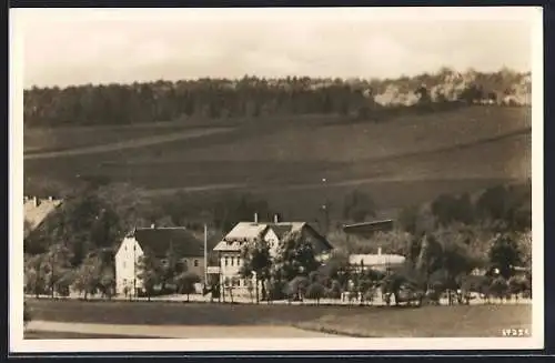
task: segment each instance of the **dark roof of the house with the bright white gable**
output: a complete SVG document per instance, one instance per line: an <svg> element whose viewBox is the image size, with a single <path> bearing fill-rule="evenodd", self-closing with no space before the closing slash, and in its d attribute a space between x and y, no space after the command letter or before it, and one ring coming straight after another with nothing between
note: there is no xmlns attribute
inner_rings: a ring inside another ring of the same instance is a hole
<svg viewBox="0 0 555 363"><path fill-rule="evenodd" d="M204 255L203 241L185 228L143 228L137 229L133 235L141 249L149 250L159 258L165 256L170 249L180 258Z"/></svg>

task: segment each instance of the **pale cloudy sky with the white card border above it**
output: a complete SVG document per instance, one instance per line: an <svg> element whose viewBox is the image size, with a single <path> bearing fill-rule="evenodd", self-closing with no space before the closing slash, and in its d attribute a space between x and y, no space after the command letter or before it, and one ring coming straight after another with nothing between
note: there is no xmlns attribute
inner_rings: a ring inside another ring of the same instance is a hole
<svg viewBox="0 0 555 363"><path fill-rule="evenodd" d="M533 8L16 9L23 87L529 71Z"/></svg>

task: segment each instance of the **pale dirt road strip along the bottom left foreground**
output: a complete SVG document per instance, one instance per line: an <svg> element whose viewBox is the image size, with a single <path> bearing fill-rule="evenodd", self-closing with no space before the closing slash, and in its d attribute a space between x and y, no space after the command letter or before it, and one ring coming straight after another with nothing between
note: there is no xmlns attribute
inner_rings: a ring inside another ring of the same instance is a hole
<svg viewBox="0 0 555 363"><path fill-rule="evenodd" d="M91 323L60 323L48 321L32 321L28 325L30 331L67 332L101 335L130 335L144 337L173 339L285 339L285 337L340 337L340 335L304 331L292 326L280 325L123 325L123 324L91 324Z"/></svg>

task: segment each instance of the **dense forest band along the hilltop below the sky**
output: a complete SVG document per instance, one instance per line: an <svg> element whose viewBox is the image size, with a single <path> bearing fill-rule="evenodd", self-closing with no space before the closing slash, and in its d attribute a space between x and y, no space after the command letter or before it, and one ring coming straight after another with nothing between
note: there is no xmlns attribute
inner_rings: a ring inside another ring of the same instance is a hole
<svg viewBox="0 0 555 363"><path fill-rule="evenodd" d="M287 77L159 80L132 84L32 88L23 93L26 127L131 124L264 115L344 114L422 103L531 103L531 73L507 69L438 72L398 79Z"/></svg>

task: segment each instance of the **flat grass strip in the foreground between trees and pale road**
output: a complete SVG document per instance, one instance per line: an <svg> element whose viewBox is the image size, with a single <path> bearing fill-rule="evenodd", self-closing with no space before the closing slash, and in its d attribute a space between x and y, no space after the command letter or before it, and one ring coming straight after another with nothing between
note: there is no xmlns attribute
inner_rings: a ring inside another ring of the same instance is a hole
<svg viewBox="0 0 555 363"><path fill-rule="evenodd" d="M151 325L293 325L354 336L501 336L531 329L531 305L423 307L29 300L36 320Z"/></svg>

